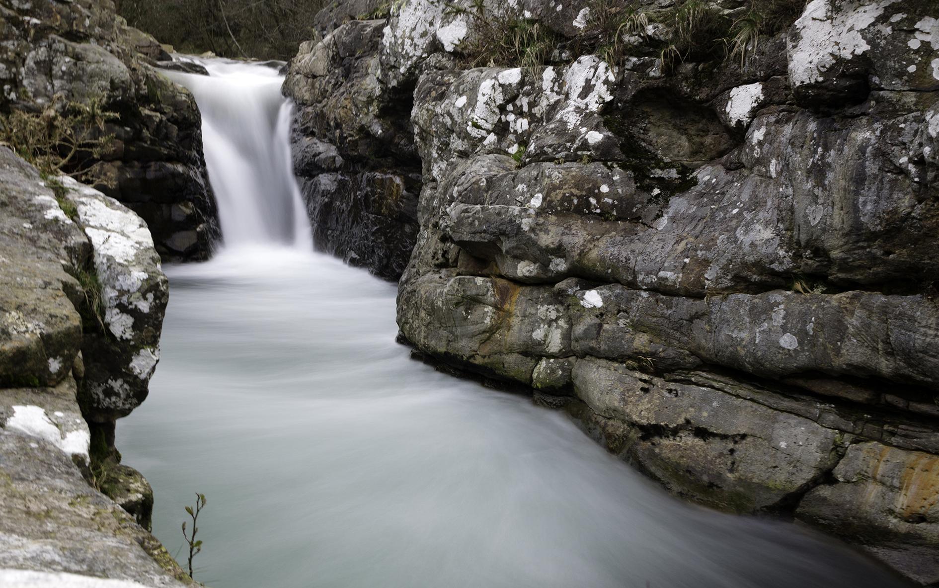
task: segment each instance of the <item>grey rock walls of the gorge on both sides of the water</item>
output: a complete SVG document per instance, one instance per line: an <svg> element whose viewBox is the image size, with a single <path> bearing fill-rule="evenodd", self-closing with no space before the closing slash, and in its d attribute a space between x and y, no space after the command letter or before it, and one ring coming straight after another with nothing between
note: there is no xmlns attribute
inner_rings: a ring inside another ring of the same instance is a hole
<svg viewBox="0 0 939 588"><path fill-rule="evenodd" d="M562 410L686 501L939 585L931 0L315 22L283 86L312 237L398 282L415 357ZM190 585L115 422L160 358L162 262L223 238L199 108L159 69L203 71L111 0L0 0L0 30L8 147L95 121L53 173L0 147L0 584Z"/></svg>

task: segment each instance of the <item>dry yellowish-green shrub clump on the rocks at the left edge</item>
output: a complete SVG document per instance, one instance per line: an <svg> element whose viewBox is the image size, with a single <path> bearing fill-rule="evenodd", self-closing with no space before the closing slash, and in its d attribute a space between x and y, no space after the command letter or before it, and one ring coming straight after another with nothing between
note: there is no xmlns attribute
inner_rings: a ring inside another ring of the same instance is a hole
<svg viewBox="0 0 939 588"><path fill-rule="evenodd" d="M82 176L90 171L89 162L100 160L111 146L114 135L105 129L117 118L100 99L83 104L56 96L40 112L11 112L0 125L0 145L35 165L44 177Z"/></svg>

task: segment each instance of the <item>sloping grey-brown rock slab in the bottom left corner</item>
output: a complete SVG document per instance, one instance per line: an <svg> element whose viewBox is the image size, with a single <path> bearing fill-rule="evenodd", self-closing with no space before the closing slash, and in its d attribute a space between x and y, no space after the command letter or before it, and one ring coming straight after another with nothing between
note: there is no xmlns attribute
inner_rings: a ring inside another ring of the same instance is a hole
<svg viewBox="0 0 939 588"><path fill-rule="evenodd" d="M14 585L24 575L10 570L192 585L131 515L88 487L68 456L8 429L0 429L0 570L0 581Z"/></svg>

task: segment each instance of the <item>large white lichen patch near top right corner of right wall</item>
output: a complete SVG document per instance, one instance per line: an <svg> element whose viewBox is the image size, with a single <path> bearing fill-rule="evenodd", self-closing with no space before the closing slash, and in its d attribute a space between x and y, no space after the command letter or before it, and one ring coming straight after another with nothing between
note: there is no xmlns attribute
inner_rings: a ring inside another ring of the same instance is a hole
<svg viewBox="0 0 939 588"><path fill-rule="evenodd" d="M870 50L868 28L899 0L878 0L860 5L832 6L831 0L812 0L793 24L798 39L789 51L789 77L793 86L824 80L824 73L839 60ZM853 9L851 9L853 7Z"/></svg>

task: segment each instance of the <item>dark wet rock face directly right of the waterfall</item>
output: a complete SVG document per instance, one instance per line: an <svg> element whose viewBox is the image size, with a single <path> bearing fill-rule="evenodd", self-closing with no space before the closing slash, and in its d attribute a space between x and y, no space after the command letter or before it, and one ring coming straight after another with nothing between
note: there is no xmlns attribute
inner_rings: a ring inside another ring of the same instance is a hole
<svg viewBox="0 0 939 588"><path fill-rule="evenodd" d="M384 21L346 23L304 43L284 91L298 105L292 137L316 246L397 279L417 238L421 161L410 87L377 76Z"/></svg>

